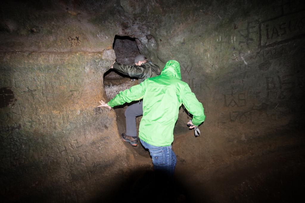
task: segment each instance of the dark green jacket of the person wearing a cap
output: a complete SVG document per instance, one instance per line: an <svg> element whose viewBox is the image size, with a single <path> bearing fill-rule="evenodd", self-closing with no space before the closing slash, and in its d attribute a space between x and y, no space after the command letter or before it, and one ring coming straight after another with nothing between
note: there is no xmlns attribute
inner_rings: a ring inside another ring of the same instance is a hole
<svg viewBox="0 0 305 203"><path fill-rule="evenodd" d="M159 66L153 64L152 62L146 62L141 66L128 66L115 62L113 64L113 68L119 71L120 73L123 73L124 75L129 75L130 77L138 78L139 84L142 83L146 78L160 75Z"/></svg>

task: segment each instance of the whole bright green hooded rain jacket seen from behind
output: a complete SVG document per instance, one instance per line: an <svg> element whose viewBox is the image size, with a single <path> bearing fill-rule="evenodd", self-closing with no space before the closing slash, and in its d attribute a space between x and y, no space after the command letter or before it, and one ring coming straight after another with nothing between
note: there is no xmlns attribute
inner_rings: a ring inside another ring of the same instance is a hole
<svg viewBox="0 0 305 203"><path fill-rule="evenodd" d="M174 126L181 104L193 115L192 123L201 124L204 119L202 104L187 83L181 80L180 65L170 60L161 74L148 78L141 84L121 91L108 105L113 107L143 98L143 117L139 138L154 146L169 146L174 140Z"/></svg>

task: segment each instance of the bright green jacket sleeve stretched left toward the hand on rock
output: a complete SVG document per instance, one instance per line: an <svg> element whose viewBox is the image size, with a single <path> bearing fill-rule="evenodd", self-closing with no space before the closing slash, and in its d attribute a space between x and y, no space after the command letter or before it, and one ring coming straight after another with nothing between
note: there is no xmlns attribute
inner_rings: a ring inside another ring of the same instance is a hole
<svg viewBox="0 0 305 203"><path fill-rule="evenodd" d="M126 102L137 101L143 98L145 93L145 84L142 82L138 85L132 86L128 90L120 91L113 99L111 99L107 104L111 107L122 105Z"/></svg>

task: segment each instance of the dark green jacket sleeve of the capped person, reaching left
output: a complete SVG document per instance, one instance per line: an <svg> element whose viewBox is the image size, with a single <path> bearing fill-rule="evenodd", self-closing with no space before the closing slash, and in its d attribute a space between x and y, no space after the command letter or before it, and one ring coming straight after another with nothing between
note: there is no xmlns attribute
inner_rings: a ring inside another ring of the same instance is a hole
<svg viewBox="0 0 305 203"><path fill-rule="evenodd" d="M128 66L115 62L113 68L130 77L144 78L149 74L149 68L146 66Z"/></svg>

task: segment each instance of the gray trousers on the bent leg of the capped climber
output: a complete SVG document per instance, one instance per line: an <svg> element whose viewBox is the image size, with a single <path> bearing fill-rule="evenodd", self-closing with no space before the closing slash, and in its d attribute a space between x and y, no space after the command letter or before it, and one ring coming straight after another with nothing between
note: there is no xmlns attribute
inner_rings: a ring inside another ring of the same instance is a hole
<svg viewBox="0 0 305 203"><path fill-rule="evenodd" d="M143 101L137 102L127 107L125 110L126 120L126 135L137 136L137 128L135 124L135 117L143 115Z"/></svg>

